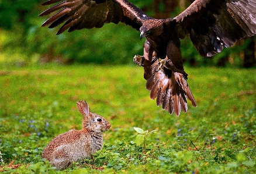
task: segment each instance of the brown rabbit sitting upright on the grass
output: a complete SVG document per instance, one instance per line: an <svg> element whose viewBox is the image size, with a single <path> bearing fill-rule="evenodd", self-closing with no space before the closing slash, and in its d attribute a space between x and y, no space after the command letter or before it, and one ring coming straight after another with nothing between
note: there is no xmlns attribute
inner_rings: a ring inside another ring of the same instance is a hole
<svg viewBox="0 0 256 174"><path fill-rule="evenodd" d="M84 100L78 101L77 107L83 115L82 130L71 129L58 135L43 150L42 157L57 170L66 169L72 162L92 158L92 154L102 148L102 132L111 126L108 120L90 112Z"/></svg>

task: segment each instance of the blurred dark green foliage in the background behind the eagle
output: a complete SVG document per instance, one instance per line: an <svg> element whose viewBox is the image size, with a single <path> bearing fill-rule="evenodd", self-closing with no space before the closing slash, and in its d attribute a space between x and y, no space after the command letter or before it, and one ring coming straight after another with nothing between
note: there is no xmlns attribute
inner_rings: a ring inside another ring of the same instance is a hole
<svg viewBox="0 0 256 174"><path fill-rule="evenodd" d="M99 63L132 64L135 54L143 54L139 32L123 23L105 24L102 29L84 29L54 35L57 29L40 27L47 17L38 15L47 9L39 0L0 1L0 62ZM184 10L191 1L139 1L131 0L152 17L171 17ZM189 38L181 40L185 62L193 66L243 66L244 50L254 40L245 40L237 46L224 49L213 58L202 58Z"/></svg>

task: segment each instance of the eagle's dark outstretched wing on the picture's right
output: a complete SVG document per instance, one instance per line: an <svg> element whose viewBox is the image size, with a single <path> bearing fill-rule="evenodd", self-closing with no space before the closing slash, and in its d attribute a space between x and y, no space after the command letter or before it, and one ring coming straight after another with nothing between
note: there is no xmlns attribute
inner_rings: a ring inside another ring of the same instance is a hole
<svg viewBox="0 0 256 174"><path fill-rule="evenodd" d="M256 34L256 0L196 0L174 17L180 38L189 35L202 56L212 56Z"/></svg>

